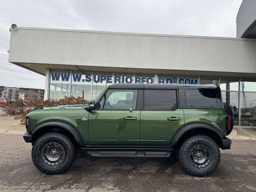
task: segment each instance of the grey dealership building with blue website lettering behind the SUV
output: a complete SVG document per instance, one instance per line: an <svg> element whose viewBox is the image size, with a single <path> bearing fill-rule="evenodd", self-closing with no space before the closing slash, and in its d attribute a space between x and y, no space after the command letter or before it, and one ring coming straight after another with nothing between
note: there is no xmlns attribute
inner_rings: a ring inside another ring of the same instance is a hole
<svg viewBox="0 0 256 192"><path fill-rule="evenodd" d="M256 120L256 1L244 0L237 38L10 28L9 62L46 76L44 99L92 100L112 83L214 84L236 126Z"/></svg>

